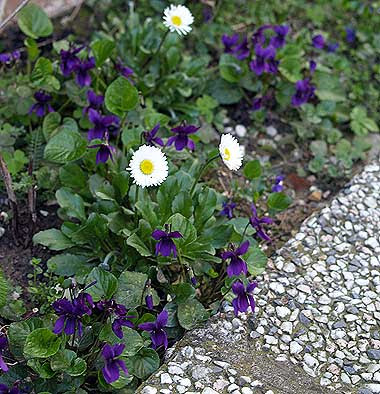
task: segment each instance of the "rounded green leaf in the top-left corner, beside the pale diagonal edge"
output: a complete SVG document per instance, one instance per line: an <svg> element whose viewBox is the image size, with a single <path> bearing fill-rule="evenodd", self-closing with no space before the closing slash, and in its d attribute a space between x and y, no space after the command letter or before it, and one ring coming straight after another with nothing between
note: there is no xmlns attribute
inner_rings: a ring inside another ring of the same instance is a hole
<svg viewBox="0 0 380 394"><path fill-rule="evenodd" d="M28 4L19 12L18 25L24 34L35 39L53 33L53 24L49 17L35 4Z"/></svg>

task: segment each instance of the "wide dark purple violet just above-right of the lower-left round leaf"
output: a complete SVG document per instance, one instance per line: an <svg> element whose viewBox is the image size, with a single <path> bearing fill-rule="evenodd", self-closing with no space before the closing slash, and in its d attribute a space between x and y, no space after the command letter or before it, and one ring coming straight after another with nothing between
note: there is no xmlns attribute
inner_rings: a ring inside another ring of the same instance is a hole
<svg viewBox="0 0 380 394"><path fill-rule="evenodd" d="M94 303L90 294L81 293L72 301L62 298L53 302L53 309L60 317L55 322L53 329L54 334L60 334L62 331L66 335L73 335L78 331L82 335L81 318L84 315L91 315Z"/></svg>

